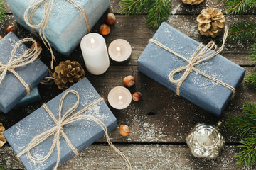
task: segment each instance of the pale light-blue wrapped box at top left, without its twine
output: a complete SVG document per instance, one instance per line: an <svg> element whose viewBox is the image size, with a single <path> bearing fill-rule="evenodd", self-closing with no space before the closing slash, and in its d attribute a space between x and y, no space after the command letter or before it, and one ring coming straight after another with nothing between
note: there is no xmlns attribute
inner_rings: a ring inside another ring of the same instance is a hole
<svg viewBox="0 0 256 170"><path fill-rule="evenodd" d="M31 30L31 28L26 25L23 15L28 6L34 1L36 0L7 0L16 21L28 30ZM85 10L90 28L110 7L110 0L76 0L74 2ZM33 23L40 23L42 18L43 5L34 13ZM38 29L36 30L38 31ZM75 47L78 46L82 37L87 34L87 26L85 18L78 8L75 8L66 0L55 0L53 1L53 11L45 32L46 38L52 47L63 55L70 55Z"/></svg>

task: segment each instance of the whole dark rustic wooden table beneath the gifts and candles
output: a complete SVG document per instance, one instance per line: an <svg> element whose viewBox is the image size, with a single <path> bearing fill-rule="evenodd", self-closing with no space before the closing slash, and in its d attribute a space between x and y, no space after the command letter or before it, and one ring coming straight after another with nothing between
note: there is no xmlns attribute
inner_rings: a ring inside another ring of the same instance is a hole
<svg viewBox="0 0 256 170"><path fill-rule="evenodd" d="M86 73L86 77L99 94L105 98L106 102L110 89L114 86L122 86L122 80L130 74L136 78L136 85L129 90L142 92L142 101L132 102L128 108L122 111L117 111L110 106L117 117L117 128L110 132L114 145L129 158L134 169L239 169L235 164L236 159L233 158L233 154L241 151L237 147L239 138L232 135L225 126L221 129L225 136L226 145L215 160L193 157L186 145L185 137L198 122L216 124L218 120L225 120L229 115L240 114L241 106L244 103L256 103L256 90L242 82L235 98L228 104L221 118L215 118L186 99L176 96L174 92L138 72L137 59L155 31L146 26L144 13L131 19L120 15L118 3L119 0L111 2L109 11L115 13L117 22L111 26L111 33L105 36L105 40L107 46L117 38L127 40L132 45L132 57L123 64L111 62L107 72L100 76ZM203 8L214 7L213 1L205 1L199 6L188 6L180 0L174 0L172 6L172 12L167 21L171 26L199 42L209 42L210 38L203 37L198 33L196 16ZM6 21L0 26L0 35L2 36L5 35L7 26L16 24L11 11L9 9L7 11ZM229 24L233 21L255 21L256 17L253 15L238 18L227 16L227 19ZM103 18L92 29L92 32L97 32L101 23L103 23ZM18 36L25 38L33 35L18 25ZM218 45L220 45L220 39L217 40ZM253 67L248 61L250 45L252 42L236 43L229 41L221 54L244 67L247 75L252 73ZM70 59L77 60L85 67L80 47L77 47L68 58L63 57L58 52L55 52L55 55L57 56L55 65L62 60ZM49 66L50 53L46 49L43 49L41 60ZM50 101L61 92L55 84L50 86L40 84L38 88L41 93L41 102L14 108L8 114L0 113L0 123L3 123L6 128L11 127L39 108L42 103ZM131 128L128 137L119 135L118 128L123 124L129 125ZM0 164L5 169L24 169L8 144L0 148ZM107 145L105 138L102 137L83 150L79 156L73 157L60 166L59 169L124 169L124 167L122 158Z"/></svg>

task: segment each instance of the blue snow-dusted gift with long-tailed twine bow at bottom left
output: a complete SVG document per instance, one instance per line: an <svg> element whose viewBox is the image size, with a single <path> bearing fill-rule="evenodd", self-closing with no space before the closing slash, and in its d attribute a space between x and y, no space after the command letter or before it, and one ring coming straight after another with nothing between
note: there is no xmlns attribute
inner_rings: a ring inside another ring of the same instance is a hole
<svg viewBox="0 0 256 170"><path fill-rule="evenodd" d="M103 135L122 154L107 135L116 126L117 119L85 78L6 130L4 136L26 169L55 169ZM128 166L128 159L122 157Z"/></svg>

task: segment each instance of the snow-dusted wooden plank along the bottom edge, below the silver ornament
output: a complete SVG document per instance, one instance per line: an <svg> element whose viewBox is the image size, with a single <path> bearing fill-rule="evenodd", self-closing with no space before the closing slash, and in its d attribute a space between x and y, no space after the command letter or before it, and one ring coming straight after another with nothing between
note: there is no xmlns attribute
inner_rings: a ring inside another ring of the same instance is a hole
<svg viewBox="0 0 256 170"><path fill-rule="evenodd" d="M193 157L187 145L116 145L133 169L240 169L233 154L235 145L226 145L215 160ZM0 148L0 164L6 169L24 169L10 147ZM254 169L251 168L243 169ZM107 145L91 145L58 169L125 169L124 161Z"/></svg>

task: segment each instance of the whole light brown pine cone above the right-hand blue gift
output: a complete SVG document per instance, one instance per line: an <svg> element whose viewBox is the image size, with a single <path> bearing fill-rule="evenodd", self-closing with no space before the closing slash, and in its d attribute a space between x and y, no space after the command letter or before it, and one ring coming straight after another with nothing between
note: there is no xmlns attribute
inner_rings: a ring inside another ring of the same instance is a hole
<svg viewBox="0 0 256 170"><path fill-rule="evenodd" d="M225 26L225 16L215 8L203 9L196 21L201 35L211 36L212 38L220 35Z"/></svg>

